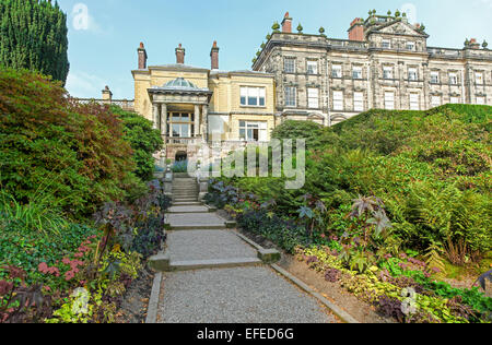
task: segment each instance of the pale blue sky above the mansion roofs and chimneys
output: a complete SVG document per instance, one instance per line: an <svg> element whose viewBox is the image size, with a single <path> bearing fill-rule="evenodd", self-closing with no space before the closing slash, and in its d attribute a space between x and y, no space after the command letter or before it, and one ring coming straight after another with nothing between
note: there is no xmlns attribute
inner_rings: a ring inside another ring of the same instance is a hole
<svg viewBox="0 0 492 345"><path fill-rule="evenodd" d="M492 45L492 0L58 0L68 14L70 73L74 97L99 98L108 85L113 97L133 99L131 70L137 48L145 44L149 64L175 63L183 44L186 64L210 68L210 49L220 47L221 70L251 68L251 59L273 22L286 11L293 28L306 34L324 26L331 38L348 38L355 17L370 10L397 9L424 23L430 46L462 48L466 38Z"/></svg>

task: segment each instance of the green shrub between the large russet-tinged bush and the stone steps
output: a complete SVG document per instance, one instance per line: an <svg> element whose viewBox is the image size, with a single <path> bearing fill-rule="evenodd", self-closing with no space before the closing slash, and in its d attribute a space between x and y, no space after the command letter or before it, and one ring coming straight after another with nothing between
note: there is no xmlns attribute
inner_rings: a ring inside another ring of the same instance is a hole
<svg viewBox="0 0 492 345"><path fill-rule="evenodd" d="M155 168L153 154L164 144L161 132L153 129L152 122L131 111L125 111L120 107L112 106L112 112L122 120L125 140L133 150L133 158L137 163L134 174L144 181L150 181Z"/></svg>

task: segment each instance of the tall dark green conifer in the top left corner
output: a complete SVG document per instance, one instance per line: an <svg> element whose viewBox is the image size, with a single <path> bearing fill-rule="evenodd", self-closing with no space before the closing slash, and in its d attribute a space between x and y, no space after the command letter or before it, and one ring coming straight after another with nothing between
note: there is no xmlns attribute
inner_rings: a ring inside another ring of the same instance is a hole
<svg viewBox="0 0 492 345"><path fill-rule="evenodd" d="M58 2L0 1L0 66L28 69L66 82L69 72L67 14Z"/></svg>

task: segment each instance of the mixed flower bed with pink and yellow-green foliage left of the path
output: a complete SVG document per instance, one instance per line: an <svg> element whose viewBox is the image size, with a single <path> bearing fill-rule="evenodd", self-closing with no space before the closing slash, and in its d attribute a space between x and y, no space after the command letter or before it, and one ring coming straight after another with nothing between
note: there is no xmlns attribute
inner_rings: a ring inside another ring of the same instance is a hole
<svg viewBox="0 0 492 345"><path fill-rule="evenodd" d="M165 240L169 204L153 181L131 205L106 204L97 228L70 225L49 238L2 224L0 322L114 322L126 288Z"/></svg>

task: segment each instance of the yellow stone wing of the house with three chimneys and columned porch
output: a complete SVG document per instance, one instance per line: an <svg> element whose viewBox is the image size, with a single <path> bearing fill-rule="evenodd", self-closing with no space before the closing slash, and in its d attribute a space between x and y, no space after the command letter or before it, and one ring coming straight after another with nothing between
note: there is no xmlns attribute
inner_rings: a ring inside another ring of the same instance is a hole
<svg viewBox="0 0 492 345"><path fill-rule="evenodd" d="M224 152L269 141L276 126L273 75L220 70L216 43L210 69L185 64L185 53L179 45L176 63L148 67L141 44L132 71L134 110L161 130L165 157L194 159L212 138L225 143Z"/></svg>

